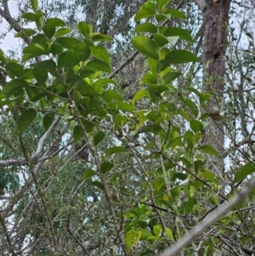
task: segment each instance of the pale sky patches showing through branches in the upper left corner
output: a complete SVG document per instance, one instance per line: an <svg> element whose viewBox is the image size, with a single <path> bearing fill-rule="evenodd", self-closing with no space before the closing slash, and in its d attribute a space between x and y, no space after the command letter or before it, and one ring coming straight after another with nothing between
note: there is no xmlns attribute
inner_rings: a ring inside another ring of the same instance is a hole
<svg viewBox="0 0 255 256"><path fill-rule="evenodd" d="M8 1L8 8L10 14L15 15L17 13L17 4L16 1ZM0 24L0 31L7 31L8 23L3 19L3 22ZM14 31L8 32L4 39L0 39L0 48L5 52L8 49L16 48L19 44L20 38L14 38Z"/></svg>

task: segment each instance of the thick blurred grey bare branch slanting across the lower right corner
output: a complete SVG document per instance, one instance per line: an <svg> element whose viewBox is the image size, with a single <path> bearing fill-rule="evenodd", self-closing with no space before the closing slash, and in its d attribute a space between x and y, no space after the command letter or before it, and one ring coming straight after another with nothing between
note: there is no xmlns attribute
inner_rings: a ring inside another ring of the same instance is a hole
<svg viewBox="0 0 255 256"><path fill-rule="evenodd" d="M176 242L172 247L168 248L161 256L174 256L176 253L179 253L185 246L194 241L196 237L200 236L202 232L206 231L210 225L215 223L224 213L228 213L231 208L237 205L239 202L245 200L246 196L254 189L255 186L255 177L252 177L247 183L246 187L238 191L235 196L233 196L229 202L212 212L211 215L207 217L200 225L195 226L191 230L190 234L184 236L178 242Z"/></svg>

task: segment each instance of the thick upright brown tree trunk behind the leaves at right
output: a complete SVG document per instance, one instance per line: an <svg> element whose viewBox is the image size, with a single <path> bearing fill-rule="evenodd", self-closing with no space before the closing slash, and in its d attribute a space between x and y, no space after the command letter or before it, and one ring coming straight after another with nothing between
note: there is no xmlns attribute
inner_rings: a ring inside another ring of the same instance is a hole
<svg viewBox="0 0 255 256"><path fill-rule="evenodd" d="M208 110L214 106L220 108L224 96L224 72L227 43L227 25L229 22L229 7L231 0L195 0L203 20L205 21L203 62L205 67L204 90L215 95ZM219 159L212 159L208 168L213 174L222 178L224 170L224 126L220 121L212 120L207 128L203 144L212 145L219 153Z"/></svg>

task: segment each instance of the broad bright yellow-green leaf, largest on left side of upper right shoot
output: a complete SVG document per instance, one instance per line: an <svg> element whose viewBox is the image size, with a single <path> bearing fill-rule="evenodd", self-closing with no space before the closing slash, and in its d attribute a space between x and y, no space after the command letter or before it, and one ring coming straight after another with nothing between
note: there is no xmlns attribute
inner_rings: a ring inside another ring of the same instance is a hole
<svg viewBox="0 0 255 256"><path fill-rule="evenodd" d="M138 36L132 39L133 47L138 49L141 54L150 57L154 60L159 60L160 48L149 37Z"/></svg>

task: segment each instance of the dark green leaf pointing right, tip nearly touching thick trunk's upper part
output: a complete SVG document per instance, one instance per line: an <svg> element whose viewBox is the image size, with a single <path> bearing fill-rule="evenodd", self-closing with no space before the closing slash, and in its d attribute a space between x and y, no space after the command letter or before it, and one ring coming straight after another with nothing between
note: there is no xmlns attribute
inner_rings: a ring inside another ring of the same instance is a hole
<svg viewBox="0 0 255 256"><path fill-rule="evenodd" d="M171 61L171 64L183 64L188 62L200 62L195 54L186 50L173 50L166 56L167 60Z"/></svg>

